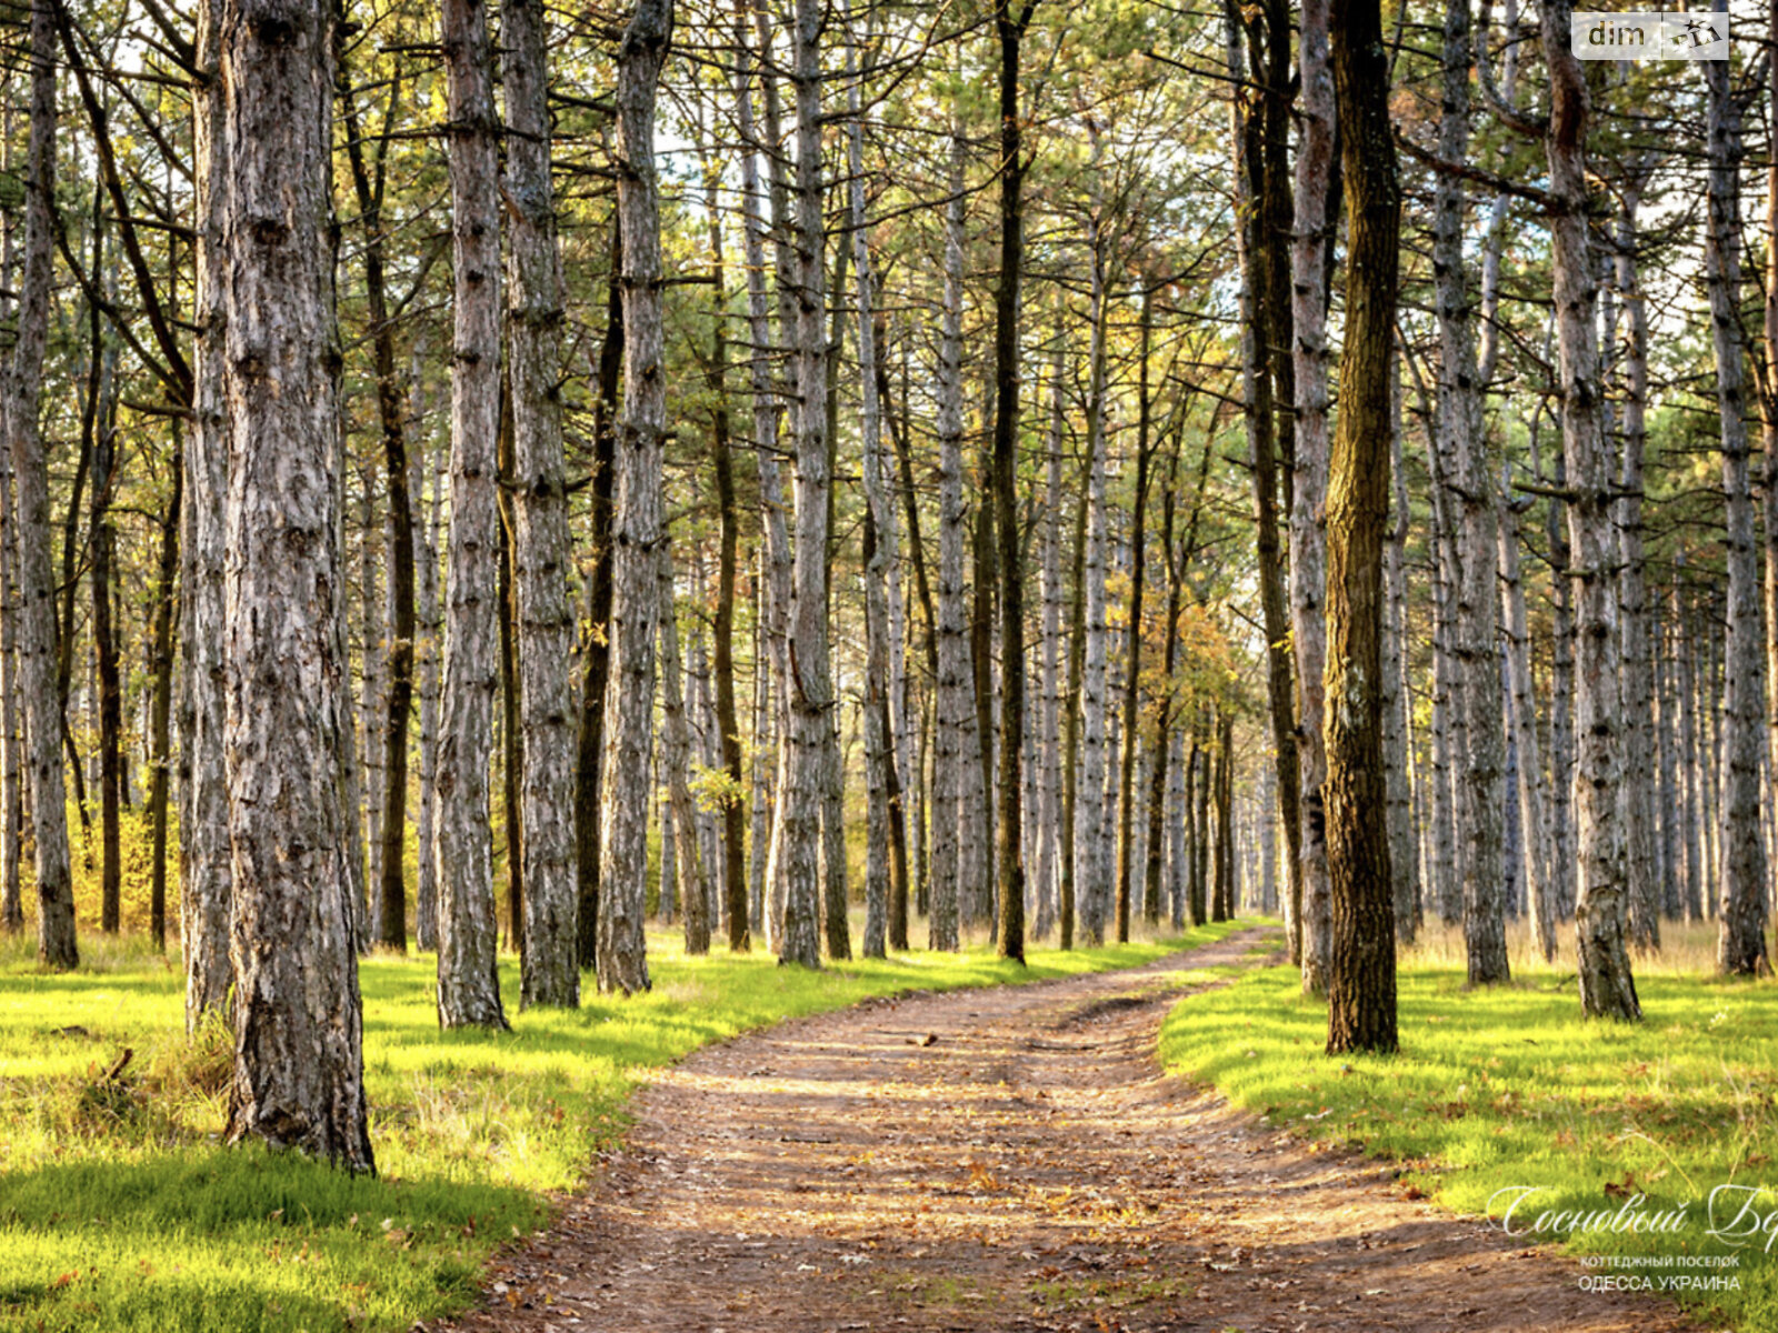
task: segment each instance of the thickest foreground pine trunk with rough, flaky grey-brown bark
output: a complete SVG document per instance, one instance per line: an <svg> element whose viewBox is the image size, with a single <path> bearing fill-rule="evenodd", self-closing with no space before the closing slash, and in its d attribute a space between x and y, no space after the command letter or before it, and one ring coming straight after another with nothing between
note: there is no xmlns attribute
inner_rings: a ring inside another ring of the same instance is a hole
<svg viewBox="0 0 1778 1333"><path fill-rule="evenodd" d="M373 1171L348 812L329 242L332 11L224 0L229 1139ZM300 597L295 594L300 590ZM316 633L320 629L320 633ZM276 809L276 818L270 812Z"/></svg>

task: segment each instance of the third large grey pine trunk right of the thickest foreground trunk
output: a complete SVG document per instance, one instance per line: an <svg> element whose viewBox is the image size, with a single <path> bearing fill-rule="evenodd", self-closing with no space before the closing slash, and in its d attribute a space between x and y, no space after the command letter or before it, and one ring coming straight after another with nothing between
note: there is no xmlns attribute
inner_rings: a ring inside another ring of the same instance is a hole
<svg viewBox="0 0 1778 1333"><path fill-rule="evenodd" d="M612 514L612 665L599 768L599 990L649 988L642 926L647 898L647 784L654 732L661 466L667 380L661 363L660 185L654 96L672 43L672 0L640 0L617 55L617 212L624 229L624 411Z"/></svg>

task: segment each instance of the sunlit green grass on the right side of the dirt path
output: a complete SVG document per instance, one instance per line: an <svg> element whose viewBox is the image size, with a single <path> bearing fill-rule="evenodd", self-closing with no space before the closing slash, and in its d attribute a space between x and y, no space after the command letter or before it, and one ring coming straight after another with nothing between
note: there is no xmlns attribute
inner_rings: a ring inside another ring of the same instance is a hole
<svg viewBox="0 0 1778 1333"><path fill-rule="evenodd" d="M1257 970L1181 1001L1161 1056L1271 1125L1405 1161L1403 1193L1456 1212L1488 1214L1494 1200L1499 1219L1506 1196L1495 1191L1510 1187L1538 1187L1515 1226L1545 1210L1616 1216L1634 1194L1646 1196L1634 1207L1645 1214L1691 1200L1673 1233L1570 1233L1572 1253L1735 1253L1705 1235L1719 1185L1758 1191L1719 1196L1719 1226L1744 1198L1778 1225L1767 1187L1778 1180L1778 985L1639 969L1645 1022L1620 1026L1581 1020L1572 970L1520 969L1515 985L1476 992L1463 981L1462 969L1406 960L1401 1054L1328 1058L1326 1006L1301 997L1291 969ZM1739 1292L1678 1294L1739 1328L1771 1329L1778 1264L1766 1241L1730 1269L1595 1273L1735 1276Z"/></svg>

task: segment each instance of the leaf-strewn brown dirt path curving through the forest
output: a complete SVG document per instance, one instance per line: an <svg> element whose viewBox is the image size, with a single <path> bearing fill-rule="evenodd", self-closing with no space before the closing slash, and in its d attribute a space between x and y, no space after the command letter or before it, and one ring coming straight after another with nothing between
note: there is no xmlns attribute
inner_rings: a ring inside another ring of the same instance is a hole
<svg viewBox="0 0 1778 1333"><path fill-rule="evenodd" d="M441 1328L1691 1328L1168 1079L1191 967L877 1001L708 1047L622 1152ZM1202 981L1202 978L1198 979Z"/></svg>

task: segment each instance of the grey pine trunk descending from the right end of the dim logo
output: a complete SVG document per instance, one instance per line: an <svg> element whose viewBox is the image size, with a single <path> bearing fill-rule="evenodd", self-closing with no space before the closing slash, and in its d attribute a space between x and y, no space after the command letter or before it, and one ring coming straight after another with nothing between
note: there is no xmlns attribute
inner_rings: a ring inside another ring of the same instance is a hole
<svg viewBox="0 0 1778 1333"><path fill-rule="evenodd" d="M1726 0L1712 12L1726 14ZM1723 647L1721 921L1716 965L1725 974L1760 974L1766 962L1766 848L1760 842L1760 750L1766 682L1760 677L1758 547L1748 469L1746 366L1741 347L1741 107L1726 60L1703 62L1709 89L1709 222L1705 272L1716 407L1726 496L1728 642ZM1634 393L1634 389L1632 389ZM1636 855L1636 848L1630 850Z"/></svg>

